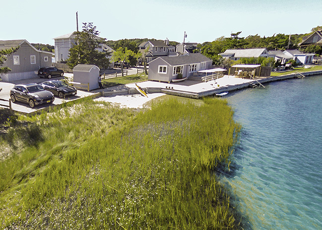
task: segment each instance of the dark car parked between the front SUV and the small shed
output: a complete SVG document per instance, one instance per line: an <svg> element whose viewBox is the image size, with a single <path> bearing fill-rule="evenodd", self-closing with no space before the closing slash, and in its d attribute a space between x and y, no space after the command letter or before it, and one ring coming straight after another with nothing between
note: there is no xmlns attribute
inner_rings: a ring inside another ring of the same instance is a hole
<svg viewBox="0 0 322 230"><path fill-rule="evenodd" d="M59 80L45 81L40 85L44 87L45 90L52 92L60 98L77 94L77 90L74 87L69 86L63 81Z"/></svg>

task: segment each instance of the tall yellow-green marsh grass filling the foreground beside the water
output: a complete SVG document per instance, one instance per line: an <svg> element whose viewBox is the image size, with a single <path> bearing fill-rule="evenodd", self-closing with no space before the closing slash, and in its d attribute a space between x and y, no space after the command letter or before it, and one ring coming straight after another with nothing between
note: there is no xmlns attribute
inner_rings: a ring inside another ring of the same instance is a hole
<svg viewBox="0 0 322 230"><path fill-rule="evenodd" d="M0 162L2 229L241 228L214 173L240 130L224 100L85 101L20 119L42 139Z"/></svg>

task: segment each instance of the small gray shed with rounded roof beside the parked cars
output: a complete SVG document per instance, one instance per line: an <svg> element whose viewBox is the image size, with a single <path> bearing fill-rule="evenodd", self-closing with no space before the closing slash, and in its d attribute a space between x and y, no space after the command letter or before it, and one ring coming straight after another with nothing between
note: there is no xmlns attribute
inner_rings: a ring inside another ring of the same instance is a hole
<svg viewBox="0 0 322 230"><path fill-rule="evenodd" d="M96 65L91 64L78 64L72 69L74 73L73 82L84 84L83 88L87 89L89 84L89 90L98 89L98 77L100 75L100 69Z"/></svg>

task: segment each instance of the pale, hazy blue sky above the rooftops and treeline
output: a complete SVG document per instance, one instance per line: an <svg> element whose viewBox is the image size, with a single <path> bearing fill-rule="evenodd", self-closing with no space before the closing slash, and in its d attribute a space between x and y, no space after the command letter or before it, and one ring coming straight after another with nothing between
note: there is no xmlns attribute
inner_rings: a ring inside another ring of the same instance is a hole
<svg viewBox="0 0 322 230"><path fill-rule="evenodd" d="M304 34L322 26L322 0L15 0L1 2L0 40L54 45L92 22L107 40L212 42L249 35Z"/></svg>

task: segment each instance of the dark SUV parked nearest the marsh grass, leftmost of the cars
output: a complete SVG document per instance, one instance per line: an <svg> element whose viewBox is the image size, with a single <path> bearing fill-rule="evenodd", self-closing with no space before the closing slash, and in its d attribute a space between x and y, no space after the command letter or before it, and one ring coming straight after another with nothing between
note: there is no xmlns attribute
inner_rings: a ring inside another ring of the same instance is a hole
<svg viewBox="0 0 322 230"><path fill-rule="evenodd" d="M10 90L10 98L13 103L16 101L28 103L31 108L44 103L53 103L55 96L52 92L45 90L38 84L15 85Z"/></svg>

